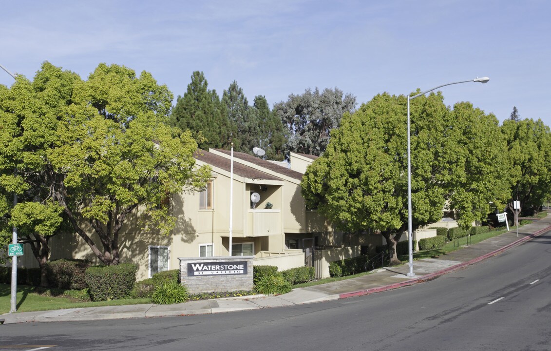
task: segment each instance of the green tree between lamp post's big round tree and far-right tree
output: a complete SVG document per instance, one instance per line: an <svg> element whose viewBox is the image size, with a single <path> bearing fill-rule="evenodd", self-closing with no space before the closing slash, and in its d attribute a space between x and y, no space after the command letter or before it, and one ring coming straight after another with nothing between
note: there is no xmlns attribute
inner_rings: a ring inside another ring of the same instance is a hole
<svg viewBox="0 0 551 351"><path fill-rule="evenodd" d="M507 143L498 119L470 102L455 104L449 116L453 127L444 133L442 167L449 175L446 198L458 224L468 228L511 196Z"/></svg>

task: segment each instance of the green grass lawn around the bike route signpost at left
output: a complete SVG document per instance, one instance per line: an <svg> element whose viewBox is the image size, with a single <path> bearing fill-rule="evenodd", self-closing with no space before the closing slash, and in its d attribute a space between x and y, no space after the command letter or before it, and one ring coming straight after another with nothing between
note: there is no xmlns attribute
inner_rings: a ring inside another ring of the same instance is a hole
<svg viewBox="0 0 551 351"><path fill-rule="evenodd" d="M10 309L11 287L8 284L0 284L0 314L8 313ZM18 285L17 287L17 311L47 311L73 309L77 307L116 306L150 304L150 299L123 299L111 301L80 301L63 296L48 296L37 294L34 287Z"/></svg>

